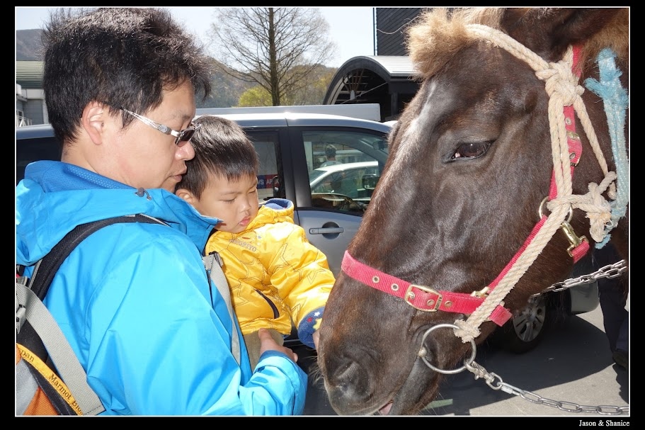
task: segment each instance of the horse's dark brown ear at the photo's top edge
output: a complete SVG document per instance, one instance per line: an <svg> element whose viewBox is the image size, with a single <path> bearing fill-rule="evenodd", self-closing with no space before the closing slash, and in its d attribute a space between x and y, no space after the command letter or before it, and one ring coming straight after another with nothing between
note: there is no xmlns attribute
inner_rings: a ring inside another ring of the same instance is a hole
<svg viewBox="0 0 645 430"><path fill-rule="evenodd" d="M569 45L589 40L620 11L621 8L508 8L502 27L544 60L556 62ZM540 28L538 33L536 27Z"/></svg>

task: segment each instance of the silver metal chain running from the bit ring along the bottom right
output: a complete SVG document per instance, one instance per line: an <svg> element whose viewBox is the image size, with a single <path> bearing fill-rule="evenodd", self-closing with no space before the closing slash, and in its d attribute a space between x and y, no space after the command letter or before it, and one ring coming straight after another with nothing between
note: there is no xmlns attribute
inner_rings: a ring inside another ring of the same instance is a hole
<svg viewBox="0 0 645 430"><path fill-rule="evenodd" d="M464 367L475 375L475 379L483 378L486 381L486 385L491 387L493 390L502 390L503 392L508 392L508 394L520 396L531 403L546 404L547 406L556 407L564 412L585 412L601 415L629 414L629 406L583 406L573 402L559 402L551 400L547 397L542 397L535 392L521 390L518 387L505 383L496 373L489 373L488 370L475 361L472 361L472 363L464 361ZM499 380L498 383L495 383L496 379Z"/></svg>

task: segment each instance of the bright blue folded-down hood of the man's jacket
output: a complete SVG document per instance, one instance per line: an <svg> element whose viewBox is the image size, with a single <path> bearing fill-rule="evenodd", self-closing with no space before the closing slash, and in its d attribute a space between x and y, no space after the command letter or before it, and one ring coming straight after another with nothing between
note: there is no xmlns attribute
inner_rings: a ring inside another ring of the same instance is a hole
<svg viewBox="0 0 645 430"><path fill-rule="evenodd" d="M16 186L16 264L35 264L76 225L136 213L188 234L200 251L219 222L164 189L137 190L64 162L29 164Z"/></svg>

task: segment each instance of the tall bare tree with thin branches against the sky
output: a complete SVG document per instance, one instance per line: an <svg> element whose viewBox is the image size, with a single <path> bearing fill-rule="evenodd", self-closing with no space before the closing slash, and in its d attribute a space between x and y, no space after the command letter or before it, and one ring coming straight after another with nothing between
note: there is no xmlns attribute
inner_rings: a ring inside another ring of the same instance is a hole
<svg viewBox="0 0 645 430"><path fill-rule="evenodd" d="M210 35L220 69L266 89L273 106L311 84L336 50L316 8L218 8L216 19Z"/></svg>

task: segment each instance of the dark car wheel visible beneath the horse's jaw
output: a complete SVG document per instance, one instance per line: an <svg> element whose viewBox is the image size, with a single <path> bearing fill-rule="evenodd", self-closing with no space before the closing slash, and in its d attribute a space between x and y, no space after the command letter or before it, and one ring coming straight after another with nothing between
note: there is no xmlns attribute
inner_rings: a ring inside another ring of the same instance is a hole
<svg viewBox="0 0 645 430"><path fill-rule="evenodd" d="M514 353L530 351L540 344L554 313L544 295L530 298L517 317L509 319L491 334L491 343Z"/></svg>

